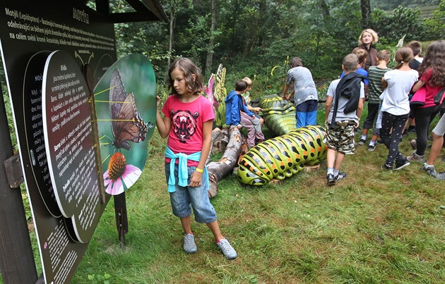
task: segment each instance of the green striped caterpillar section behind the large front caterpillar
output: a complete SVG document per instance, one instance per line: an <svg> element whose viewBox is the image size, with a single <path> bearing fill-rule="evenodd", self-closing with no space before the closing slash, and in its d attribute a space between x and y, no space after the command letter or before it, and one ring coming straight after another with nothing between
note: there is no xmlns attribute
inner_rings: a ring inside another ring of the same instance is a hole
<svg viewBox="0 0 445 284"><path fill-rule="evenodd" d="M275 135L280 136L295 130L295 106L290 101L271 94L261 98L260 107L263 109L264 123Z"/></svg>

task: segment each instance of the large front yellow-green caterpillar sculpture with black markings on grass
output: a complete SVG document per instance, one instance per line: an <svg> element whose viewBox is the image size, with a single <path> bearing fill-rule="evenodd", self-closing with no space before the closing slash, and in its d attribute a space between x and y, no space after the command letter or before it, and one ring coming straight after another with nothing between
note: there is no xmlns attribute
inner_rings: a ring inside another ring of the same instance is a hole
<svg viewBox="0 0 445 284"><path fill-rule="evenodd" d="M238 177L247 185L264 185L273 178L290 178L326 158L326 130L309 125L252 147L239 162Z"/></svg>

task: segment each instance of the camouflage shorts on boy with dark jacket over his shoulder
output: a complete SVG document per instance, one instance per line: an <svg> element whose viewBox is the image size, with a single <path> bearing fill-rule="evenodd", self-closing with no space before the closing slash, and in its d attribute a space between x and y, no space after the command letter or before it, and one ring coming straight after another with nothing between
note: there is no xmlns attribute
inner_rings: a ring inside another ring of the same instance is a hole
<svg viewBox="0 0 445 284"><path fill-rule="evenodd" d="M337 121L334 127L326 125L326 146L343 154L354 154L355 121Z"/></svg>

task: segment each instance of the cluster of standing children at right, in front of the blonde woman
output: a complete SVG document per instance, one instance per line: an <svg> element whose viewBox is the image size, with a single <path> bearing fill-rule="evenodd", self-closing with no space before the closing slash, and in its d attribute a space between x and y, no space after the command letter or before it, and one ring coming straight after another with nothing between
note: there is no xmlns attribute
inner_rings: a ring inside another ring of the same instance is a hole
<svg viewBox="0 0 445 284"><path fill-rule="evenodd" d="M398 49L395 54L397 66L393 70L387 66L391 54L386 50L379 51L376 66L369 66L369 70L361 68L366 53L359 52L359 49L343 59L344 77L331 82L325 106L328 185L334 185L346 177L346 173L340 172L340 166L345 154L355 152L354 130L360 124L366 91L369 93L368 115L358 144L366 142L368 130L375 123L368 150L374 151L376 140L381 137L381 142L388 148L382 169L397 171L409 166L410 161L425 162L429 125L439 113L444 99L442 96L439 103L434 103L434 96L445 87L445 41L430 44L423 61L419 56L421 46L420 49L418 46L419 42L410 42ZM367 75L367 86L364 76L360 80L360 74ZM409 117L412 118L411 122L415 121L417 139L411 144L417 149L405 157L398 150L398 145L403 132L407 130ZM434 170L434 161L444 142L444 132L445 120L442 116L432 131L429 159L421 168L441 180L445 180L445 173Z"/></svg>

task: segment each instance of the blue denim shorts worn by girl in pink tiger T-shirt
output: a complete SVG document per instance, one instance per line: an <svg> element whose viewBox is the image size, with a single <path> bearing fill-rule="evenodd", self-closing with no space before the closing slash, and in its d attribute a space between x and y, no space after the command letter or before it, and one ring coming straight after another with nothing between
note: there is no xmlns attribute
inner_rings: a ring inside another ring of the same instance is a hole
<svg viewBox="0 0 445 284"><path fill-rule="evenodd" d="M190 183L190 175L194 173L196 166L187 167L188 183ZM170 176L170 163L165 163L165 176L168 183ZM191 215L191 207L193 207L195 221L198 223L211 223L217 220L216 211L210 204L208 198L208 185L203 180L198 187L182 187L178 185L178 165L174 165L174 177L176 179L176 191L170 192L170 202L174 216L185 218ZM190 206L191 205L191 206Z"/></svg>

